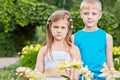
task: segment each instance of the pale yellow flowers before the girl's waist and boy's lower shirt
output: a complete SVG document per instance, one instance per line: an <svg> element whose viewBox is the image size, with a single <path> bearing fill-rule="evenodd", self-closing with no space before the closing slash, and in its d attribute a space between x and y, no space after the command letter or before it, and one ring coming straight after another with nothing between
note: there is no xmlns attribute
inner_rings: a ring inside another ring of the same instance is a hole
<svg viewBox="0 0 120 80"><path fill-rule="evenodd" d="M61 61L57 62L56 67L58 71L66 71L70 68L79 69L80 74L85 78L86 80L90 80L93 78L93 73L88 70L88 67L83 67L83 62L81 60L70 60L70 61Z"/></svg>

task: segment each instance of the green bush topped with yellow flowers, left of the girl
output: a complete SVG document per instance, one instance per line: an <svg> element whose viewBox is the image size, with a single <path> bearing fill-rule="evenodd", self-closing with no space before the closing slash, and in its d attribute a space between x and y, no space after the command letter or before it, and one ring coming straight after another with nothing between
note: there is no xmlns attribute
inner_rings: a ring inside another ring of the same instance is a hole
<svg viewBox="0 0 120 80"><path fill-rule="evenodd" d="M33 44L30 46L25 46L22 48L21 52L18 52L18 54L21 56L19 60L19 64L24 67L30 67L34 69L36 64L36 58L37 54L39 52L39 49L41 48L40 44Z"/></svg>

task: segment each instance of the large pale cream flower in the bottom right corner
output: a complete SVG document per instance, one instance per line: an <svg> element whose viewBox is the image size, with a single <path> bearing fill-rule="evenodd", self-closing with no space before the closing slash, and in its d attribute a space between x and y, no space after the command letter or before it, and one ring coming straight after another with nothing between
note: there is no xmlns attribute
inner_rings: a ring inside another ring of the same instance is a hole
<svg viewBox="0 0 120 80"><path fill-rule="evenodd" d="M103 69L101 70L99 77L105 77L106 80L115 80L115 78L120 78L120 72L116 71L114 68L109 68L106 63L103 64Z"/></svg>

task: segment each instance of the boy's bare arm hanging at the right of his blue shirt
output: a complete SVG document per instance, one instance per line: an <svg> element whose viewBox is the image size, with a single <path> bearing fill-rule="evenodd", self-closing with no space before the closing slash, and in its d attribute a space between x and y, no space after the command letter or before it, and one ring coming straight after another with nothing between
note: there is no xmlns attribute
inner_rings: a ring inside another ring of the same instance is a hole
<svg viewBox="0 0 120 80"><path fill-rule="evenodd" d="M112 54L113 38L110 34L107 34L106 38L107 38L107 46L106 46L107 65L111 69L111 68L114 68L113 54Z"/></svg>

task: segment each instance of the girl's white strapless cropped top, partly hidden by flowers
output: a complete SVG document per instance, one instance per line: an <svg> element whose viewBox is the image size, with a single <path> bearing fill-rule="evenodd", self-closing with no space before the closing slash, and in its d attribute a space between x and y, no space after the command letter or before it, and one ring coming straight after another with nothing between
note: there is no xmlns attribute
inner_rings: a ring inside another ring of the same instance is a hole
<svg viewBox="0 0 120 80"><path fill-rule="evenodd" d="M65 51L52 51L51 55L53 59L51 58L50 54L47 54L45 56L45 61L44 61L45 70L49 68L55 68L56 62L67 61L71 59L70 54Z"/></svg>

